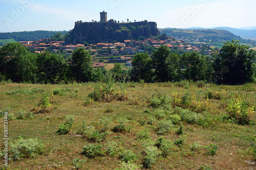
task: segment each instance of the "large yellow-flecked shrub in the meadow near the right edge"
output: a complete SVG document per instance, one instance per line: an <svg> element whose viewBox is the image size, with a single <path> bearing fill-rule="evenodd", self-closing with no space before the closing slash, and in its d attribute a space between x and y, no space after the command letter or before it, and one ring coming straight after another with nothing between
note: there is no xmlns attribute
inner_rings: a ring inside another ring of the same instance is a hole
<svg viewBox="0 0 256 170"><path fill-rule="evenodd" d="M242 99L234 99L227 105L229 118L237 120L238 124L249 125L253 114L253 107L250 103Z"/></svg>

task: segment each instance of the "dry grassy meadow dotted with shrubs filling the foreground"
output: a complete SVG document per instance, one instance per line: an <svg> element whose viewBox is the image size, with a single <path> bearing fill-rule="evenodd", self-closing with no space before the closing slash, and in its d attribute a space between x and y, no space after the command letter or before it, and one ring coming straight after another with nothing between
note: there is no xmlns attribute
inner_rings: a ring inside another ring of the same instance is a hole
<svg viewBox="0 0 256 170"><path fill-rule="evenodd" d="M256 169L255 84L115 83L99 95L105 88L2 83L9 169ZM31 138L42 150L18 151Z"/></svg>

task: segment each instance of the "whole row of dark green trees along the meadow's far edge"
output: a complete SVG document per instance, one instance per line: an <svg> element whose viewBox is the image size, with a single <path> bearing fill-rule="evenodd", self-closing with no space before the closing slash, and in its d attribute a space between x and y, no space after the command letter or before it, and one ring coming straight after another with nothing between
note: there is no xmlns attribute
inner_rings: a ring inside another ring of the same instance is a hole
<svg viewBox="0 0 256 170"><path fill-rule="evenodd" d="M160 46L152 56L139 53L134 56L132 69L124 70L115 63L115 79L126 76L135 82L177 82L181 80L215 82L217 84L244 84L255 82L255 52L227 41L219 54L204 56L197 52L177 54L167 46ZM84 48L73 52L72 58L45 52L34 54L15 42L0 48L0 81L26 83L97 82L106 75L104 68L93 69L92 57ZM128 76L127 76L128 75Z"/></svg>

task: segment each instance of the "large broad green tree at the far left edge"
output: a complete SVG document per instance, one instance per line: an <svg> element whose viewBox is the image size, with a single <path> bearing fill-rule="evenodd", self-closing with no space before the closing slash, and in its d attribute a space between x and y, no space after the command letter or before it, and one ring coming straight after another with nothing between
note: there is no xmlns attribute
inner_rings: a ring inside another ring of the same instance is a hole
<svg viewBox="0 0 256 170"><path fill-rule="evenodd" d="M36 55L18 42L0 48L0 74L13 82L34 83L36 79Z"/></svg>

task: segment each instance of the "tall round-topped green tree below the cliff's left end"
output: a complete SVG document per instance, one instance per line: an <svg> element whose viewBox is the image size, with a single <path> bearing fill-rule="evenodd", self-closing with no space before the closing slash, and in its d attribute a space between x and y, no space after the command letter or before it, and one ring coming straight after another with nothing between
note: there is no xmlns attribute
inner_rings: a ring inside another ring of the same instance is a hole
<svg viewBox="0 0 256 170"><path fill-rule="evenodd" d="M72 55L72 72L78 82L88 82L93 79L92 57L83 47L77 48Z"/></svg>

